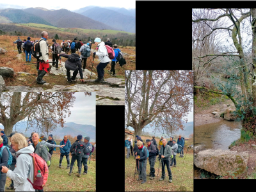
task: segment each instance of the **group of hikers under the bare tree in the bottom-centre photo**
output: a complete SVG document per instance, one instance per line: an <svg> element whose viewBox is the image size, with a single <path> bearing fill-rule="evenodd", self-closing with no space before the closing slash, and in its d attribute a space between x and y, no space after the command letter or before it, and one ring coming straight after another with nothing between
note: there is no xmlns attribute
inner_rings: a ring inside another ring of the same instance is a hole
<svg viewBox="0 0 256 192"><path fill-rule="evenodd" d="M135 174L139 173L139 179L142 180L141 184L144 184L147 181L147 176L150 176L150 179L155 179L155 162L156 158L158 157L159 160L159 166L162 165L162 176L159 180L164 180L165 175L165 165L168 170L168 176L169 176L169 182L172 182L172 172L171 167L176 167L176 156L177 153L180 154L179 157L184 157L184 144L185 139L179 135L179 138L176 142L176 140L173 140L173 137L170 138L169 141L167 141L163 136L159 140L159 146L157 147L155 136L152 136L152 140L146 140L147 147L145 147L145 143L143 143L143 140L141 140L141 137L136 135L136 141L134 141L134 146L131 138L127 138L125 140L125 147L127 148L127 155L126 158L128 159L134 154L134 159L136 159L136 172ZM132 151L133 147L133 151ZM147 160L149 161L150 165L150 173L146 173L147 170Z"/></svg>

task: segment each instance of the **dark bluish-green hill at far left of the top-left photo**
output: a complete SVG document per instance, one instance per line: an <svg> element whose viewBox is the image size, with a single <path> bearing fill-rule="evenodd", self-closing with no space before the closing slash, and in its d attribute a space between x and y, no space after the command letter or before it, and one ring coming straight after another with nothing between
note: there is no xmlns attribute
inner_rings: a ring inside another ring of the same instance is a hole
<svg viewBox="0 0 256 192"><path fill-rule="evenodd" d="M45 24L49 26L54 26L50 22L47 22L46 20L42 19L41 17L37 17L34 14L31 14L29 12L24 12L22 10L16 10L16 9L5 9L0 11L0 15L7 17L8 20L11 20L12 22L19 22L19 23L37 23L37 24Z"/></svg>

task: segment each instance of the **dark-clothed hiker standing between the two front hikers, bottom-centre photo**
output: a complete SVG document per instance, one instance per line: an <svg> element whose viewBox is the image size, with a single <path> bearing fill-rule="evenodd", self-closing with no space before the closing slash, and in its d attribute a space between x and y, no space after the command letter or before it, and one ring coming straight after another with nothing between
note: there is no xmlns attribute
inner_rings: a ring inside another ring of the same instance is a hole
<svg viewBox="0 0 256 192"><path fill-rule="evenodd" d="M157 149L156 145L150 142L150 140L146 140L146 143L148 145L148 160L150 165L150 173L147 176L150 176L150 179L155 179L155 163L156 163L156 155L157 155Z"/></svg>

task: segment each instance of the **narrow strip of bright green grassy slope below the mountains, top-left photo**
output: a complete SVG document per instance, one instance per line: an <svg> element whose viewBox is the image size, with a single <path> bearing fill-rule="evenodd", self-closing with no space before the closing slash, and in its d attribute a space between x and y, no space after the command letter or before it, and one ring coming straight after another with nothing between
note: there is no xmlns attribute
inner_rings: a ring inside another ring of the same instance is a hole
<svg viewBox="0 0 256 192"><path fill-rule="evenodd" d="M35 23L26 23L26 24L17 24L17 26L30 26L30 27L34 27L34 28L50 28L50 29L57 29L59 31L64 31L64 32L70 32L70 33L74 33L74 32L83 32L83 33L103 33L103 34L110 34L110 35L115 35L117 33L127 33L128 35L134 35L135 33L129 33L126 31L115 31L115 30L100 30L100 29L80 29L80 28L58 28L58 27L54 27L54 26L47 26L45 24L35 24Z"/></svg>

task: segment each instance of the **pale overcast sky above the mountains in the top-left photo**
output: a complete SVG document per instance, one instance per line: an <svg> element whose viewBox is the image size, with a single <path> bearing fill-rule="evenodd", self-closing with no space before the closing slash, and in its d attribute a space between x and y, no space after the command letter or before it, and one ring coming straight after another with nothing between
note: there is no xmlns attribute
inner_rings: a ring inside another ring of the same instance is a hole
<svg viewBox="0 0 256 192"><path fill-rule="evenodd" d="M28 0L12 0L9 1L9 5L15 5L15 6L20 6L20 8L30 8L30 7L43 7L47 8L48 10L54 9L54 10L60 10L60 9L67 9L70 11L73 10L79 10L80 8L84 8L86 6L113 6L113 7L118 7L118 8L135 8L135 1L134 0L126 0L126 1L115 1L115 0L109 0L109 1L104 1L104 0L97 0L97 1L81 1L81 0L76 0L76 1L50 1L50 0L44 0L44 1L28 1ZM13 8L12 6L10 7L5 7L5 6L0 6L0 8ZM18 8L18 7L17 7Z"/></svg>

